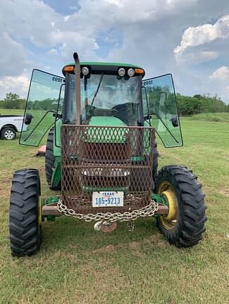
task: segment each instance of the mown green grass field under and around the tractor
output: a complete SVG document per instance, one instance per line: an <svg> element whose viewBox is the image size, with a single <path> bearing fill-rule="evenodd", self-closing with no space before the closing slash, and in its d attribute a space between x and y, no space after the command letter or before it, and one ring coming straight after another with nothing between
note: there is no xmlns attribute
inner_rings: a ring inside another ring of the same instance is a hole
<svg viewBox="0 0 229 304"><path fill-rule="evenodd" d="M1 113L1 111L0 111ZM229 123L182 118L185 146L160 145L160 167L194 170L206 194L204 240L193 248L170 246L154 219L125 224L111 234L92 223L60 217L43 225L41 251L11 258L8 201L13 171L38 167L36 148L0 141L0 303L228 303Z"/></svg>

